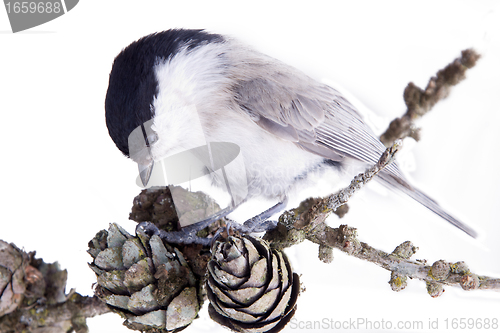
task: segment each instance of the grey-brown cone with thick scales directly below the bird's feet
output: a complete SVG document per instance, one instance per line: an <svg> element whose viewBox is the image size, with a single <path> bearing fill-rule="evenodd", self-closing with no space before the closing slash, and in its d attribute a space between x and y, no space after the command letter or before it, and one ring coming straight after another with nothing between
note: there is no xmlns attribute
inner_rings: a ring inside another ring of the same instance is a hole
<svg viewBox="0 0 500 333"><path fill-rule="evenodd" d="M111 224L89 243L96 295L143 332L176 332L197 317L200 281L183 254L157 235L136 237Z"/></svg>

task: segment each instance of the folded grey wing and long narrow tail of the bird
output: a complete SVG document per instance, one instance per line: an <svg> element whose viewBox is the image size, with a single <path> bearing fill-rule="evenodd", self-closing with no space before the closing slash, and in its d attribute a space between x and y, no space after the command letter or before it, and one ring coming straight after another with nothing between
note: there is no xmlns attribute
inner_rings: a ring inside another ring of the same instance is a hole
<svg viewBox="0 0 500 333"><path fill-rule="evenodd" d="M234 89L241 109L259 126L334 161L345 157L368 165L378 161L384 145L338 91L275 60L263 61L258 66L257 78L248 75ZM476 236L474 230L446 213L436 201L410 186L397 163L389 165L379 176L389 188L409 195L467 234Z"/></svg>

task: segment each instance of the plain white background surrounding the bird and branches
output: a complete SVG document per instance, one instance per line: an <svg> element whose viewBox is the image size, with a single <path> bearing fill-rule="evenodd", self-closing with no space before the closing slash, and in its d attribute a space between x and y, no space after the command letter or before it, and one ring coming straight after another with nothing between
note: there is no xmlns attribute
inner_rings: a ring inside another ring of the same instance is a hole
<svg viewBox="0 0 500 333"><path fill-rule="evenodd" d="M128 214L139 193L136 166L107 134L104 98L113 58L141 36L181 27L231 34L318 80L334 80L382 118L381 129L405 111L408 82L425 87L462 49L475 47L483 54L477 67L419 121L421 142L405 142L400 157L414 183L481 237L473 240L410 200L370 189L351 202L342 223L385 251L411 240L420 247L415 258L464 260L478 274L500 277L499 10L498 1L478 0L86 0L12 34L2 9L0 238L58 261L68 270L68 290L92 293L87 242L109 222L130 231L135 225ZM324 318L391 321L393 328L407 320L427 328L438 319L440 330L446 318L500 319L495 292L447 288L432 299L424 283L409 281L395 293L389 273L375 265L339 252L326 265L312 244L288 253L307 290L286 332ZM225 331L208 319L206 307L200 316L187 332ZM107 314L88 323L91 333L128 331L121 321Z"/></svg>

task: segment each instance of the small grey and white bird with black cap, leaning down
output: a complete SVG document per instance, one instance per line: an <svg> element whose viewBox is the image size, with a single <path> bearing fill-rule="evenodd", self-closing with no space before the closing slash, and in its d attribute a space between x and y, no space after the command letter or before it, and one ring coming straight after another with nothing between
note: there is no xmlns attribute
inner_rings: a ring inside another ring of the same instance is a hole
<svg viewBox="0 0 500 333"><path fill-rule="evenodd" d="M144 183L154 161L201 142L239 147L244 172L212 173L215 185L222 186L224 177L234 185L239 201L285 201L313 176L321 182L338 179L334 174L350 180L352 170L373 165L385 150L337 90L203 30L168 30L127 46L114 60L105 108L111 138L139 164ZM133 133L145 139L134 146ZM476 236L411 186L397 163L378 180Z"/></svg>

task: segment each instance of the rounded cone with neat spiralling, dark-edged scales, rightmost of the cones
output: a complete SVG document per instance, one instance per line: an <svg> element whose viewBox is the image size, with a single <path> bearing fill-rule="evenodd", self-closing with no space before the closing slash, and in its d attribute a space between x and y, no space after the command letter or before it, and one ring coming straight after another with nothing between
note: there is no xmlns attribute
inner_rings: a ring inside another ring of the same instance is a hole
<svg viewBox="0 0 500 333"><path fill-rule="evenodd" d="M250 236L216 242L208 263L210 317L237 332L280 331L295 313L300 282L286 255Z"/></svg>

